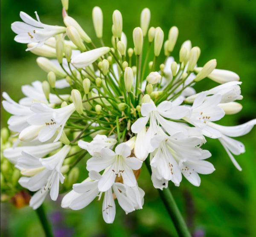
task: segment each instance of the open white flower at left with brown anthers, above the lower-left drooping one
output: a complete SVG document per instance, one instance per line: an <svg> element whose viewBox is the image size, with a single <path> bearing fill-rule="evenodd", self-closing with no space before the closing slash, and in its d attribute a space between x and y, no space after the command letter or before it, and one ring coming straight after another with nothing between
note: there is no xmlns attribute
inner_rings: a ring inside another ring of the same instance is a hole
<svg viewBox="0 0 256 237"><path fill-rule="evenodd" d="M35 113L27 120L31 126L21 131L19 139L26 141L38 136L39 141L46 142L51 139L56 132L57 137L54 142L58 141L64 126L71 116L75 112L74 104L69 104L66 107L59 109L52 109L46 104L33 103L30 109Z"/></svg>

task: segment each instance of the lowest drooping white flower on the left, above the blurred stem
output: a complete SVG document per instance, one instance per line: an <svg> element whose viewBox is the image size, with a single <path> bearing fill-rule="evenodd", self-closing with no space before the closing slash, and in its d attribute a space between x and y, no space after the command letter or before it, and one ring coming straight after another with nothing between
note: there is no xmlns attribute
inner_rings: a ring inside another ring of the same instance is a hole
<svg viewBox="0 0 256 237"><path fill-rule="evenodd" d="M44 202L48 193L52 200L57 199L59 182L64 182L61 167L69 151L70 146L65 145L53 156L44 159L22 152L23 157L18 159L17 167L21 173L32 177L21 177L19 183L30 191L37 191L29 202L33 209L37 209Z"/></svg>

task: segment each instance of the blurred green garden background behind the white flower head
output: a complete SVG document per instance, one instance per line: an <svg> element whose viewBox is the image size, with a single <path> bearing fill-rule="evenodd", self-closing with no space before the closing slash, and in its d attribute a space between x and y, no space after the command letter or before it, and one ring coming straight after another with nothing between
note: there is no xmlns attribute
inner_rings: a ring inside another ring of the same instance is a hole
<svg viewBox="0 0 256 237"><path fill-rule="evenodd" d="M112 12L119 9L123 16L123 30L132 47L132 31L140 25L140 12L151 9L151 26L160 26L167 36L169 28L179 28L174 55L184 40L201 48L199 65L216 58L218 68L229 69L240 75L243 110L235 116L225 116L224 125L235 125L256 117L256 1L255 0L70 0L69 14L96 40L91 11L100 6L104 14L104 40L111 42ZM60 0L1 0L1 93L7 91L16 101L22 98L20 86L35 80L45 80L37 66L36 56L25 52L26 45L16 43L11 31L12 22L20 20L19 12L34 17L37 11L43 23L63 25ZM166 37L165 37L166 38ZM198 91L216 86L204 79L196 86ZM240 101L239 101L240 102ZM1 127L6 126L9 114L1 105ZM246 153L237 157L243 171L230 162L224 148L216 140L204 146L212 153L209 161L216 171L201 175L201 186L192 186L185 179L180 187L170 182L170 188L190 230L196 237L253 237L256 236L256 129L239 138L246 145ZM83 164L81 164L83 165ZM80 173L79 179L85 178ZM54 226L55 235L65 236L176 236L172 221L151 185L145 167L138 180L145 190L143 210L131 214L117 207L112 225L102 220L101 203L94 201L81 211L63 210L61 198L46 201L47 214ZM31 208L15 209L12 204L1 204L1 236L44 236L36 214Z"/></svg>

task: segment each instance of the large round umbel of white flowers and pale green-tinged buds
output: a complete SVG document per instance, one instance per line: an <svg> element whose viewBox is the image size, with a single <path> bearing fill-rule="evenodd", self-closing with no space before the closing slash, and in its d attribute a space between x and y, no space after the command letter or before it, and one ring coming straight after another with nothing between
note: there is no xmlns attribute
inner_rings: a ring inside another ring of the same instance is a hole
<svg viewBox="0 0 256 237"><path fill-rule="evenodd" d="M105 26L113 33L106 46L102 10L93 8L97 39L92 40L62 2L63 26L42 23L36 12L37 20L20 12L22 21L12 23L15 41L26 43L47 72L45 81L22 86L25 97L18 102L3 92L3 107L12 114L8 127L16 136L3 156L20 170L20 185L34 192L32 208L47 195L56 200L59 190L69 191L63 208L79 210L103 199L103 218L113 223L116 203L126 214L143 208L145 193L138 186L143 162L150 164L154 188L179 186L183 178L199 186L199 174L215 170L207 161L210 151L202 148L208 139L218 139L241 171L233 155L245 148L233 137L249 133L256 119L233 127L218 124L242 109L236 102L243 98L239 75L216 69L215 59L198 66L200 48L190 40L176 46L176 26L168 33L150 27L147 8L133 42L127 42L122 14L115 10L113 25ZM180 47L176 59L175 46ZM216 87L196 92L194 85L203 79ZM88 176L74 183L70 173L82 159ZM65 178L72 190L60 186Z"/></svg>

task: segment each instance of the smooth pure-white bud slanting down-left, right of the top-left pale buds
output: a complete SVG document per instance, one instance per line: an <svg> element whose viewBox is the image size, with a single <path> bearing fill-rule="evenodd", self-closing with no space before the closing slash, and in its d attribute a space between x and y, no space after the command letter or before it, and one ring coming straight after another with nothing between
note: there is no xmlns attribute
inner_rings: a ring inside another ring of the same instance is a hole
<svg viewBox="0 0 256 237"><path fill-rule="evenodd" d="M83 52L71 60L71 63L78 67L82 68L84 66L89 66L94 63L98 58L102 57L106 53L110 51L109 47L101 47L97 49L93 49L87 52Z"/></svg>

